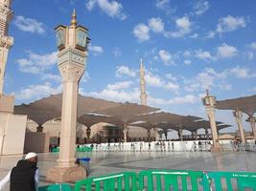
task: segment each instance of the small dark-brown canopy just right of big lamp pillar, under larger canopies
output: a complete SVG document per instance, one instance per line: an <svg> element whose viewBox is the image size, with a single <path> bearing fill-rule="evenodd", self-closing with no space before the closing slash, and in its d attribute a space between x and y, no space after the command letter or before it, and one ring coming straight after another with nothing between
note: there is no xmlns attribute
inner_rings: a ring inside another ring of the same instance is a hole
<svg viewBox="0 0 256 191"><path fill-rule="evenodd" d="M116 126L123 126L123 122L115 117L108 117L96 114L84 114L78 118L78 121L86 127L91 127L100 122L109 123Z"/></svg>

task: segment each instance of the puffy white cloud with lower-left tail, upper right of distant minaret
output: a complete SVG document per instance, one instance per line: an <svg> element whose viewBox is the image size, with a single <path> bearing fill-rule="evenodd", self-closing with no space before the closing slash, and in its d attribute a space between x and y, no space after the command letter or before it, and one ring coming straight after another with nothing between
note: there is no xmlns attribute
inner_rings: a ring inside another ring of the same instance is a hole
<svg viewBox="0 0 256 191"><path fill-rule="evenodd" d="M191 32L192 23L190 22L188 16L177 18L175 20L175 25L176 25L177 31L167 32L166 33L167 36L172 36L176 38L176 37L182 37Z"/></svg>

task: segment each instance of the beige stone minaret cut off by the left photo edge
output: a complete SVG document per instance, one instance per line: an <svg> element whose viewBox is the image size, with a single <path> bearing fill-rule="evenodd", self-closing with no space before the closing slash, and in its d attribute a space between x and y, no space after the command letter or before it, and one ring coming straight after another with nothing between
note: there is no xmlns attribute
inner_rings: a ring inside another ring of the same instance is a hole
<svg viewBox="0 0 256 191"><path fill-rule="evenodd" d="M13 13L11 4L12 0L0 0L0 96L3 95L8 53L13 44L13 38L8 36L8 26Z"/></svg>

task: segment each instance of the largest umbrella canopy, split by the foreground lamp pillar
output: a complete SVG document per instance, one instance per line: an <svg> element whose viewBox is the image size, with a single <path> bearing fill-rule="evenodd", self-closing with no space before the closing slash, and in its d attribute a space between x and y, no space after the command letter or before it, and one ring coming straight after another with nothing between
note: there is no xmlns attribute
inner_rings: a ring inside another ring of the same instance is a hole
<svg viewBox="0 0 256 191"><path fill-rule="evenodd" d="M78 96L78 117L85 113L103 110L108 107L117 106L119 103L107 101L90 96ZM34 120L38 125L44 122L61 117L62 94L48 96L28 105L22 104L14 107L14 114L26 115Z"/></svg>

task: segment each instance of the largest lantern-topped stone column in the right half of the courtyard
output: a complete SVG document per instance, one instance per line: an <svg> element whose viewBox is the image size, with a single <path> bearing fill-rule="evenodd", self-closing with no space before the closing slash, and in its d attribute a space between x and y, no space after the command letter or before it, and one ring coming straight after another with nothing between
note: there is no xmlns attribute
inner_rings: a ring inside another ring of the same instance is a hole
<svg viewBox="0 0 256 191"><path fill-rule="evenodd" d="M211 150L213 152L220 152L221 145L219 144L219 136L217 133L216 121L215 121L215 96L210 96L208 90L206 90L206 96L202 98L203 106L205 107L207 117L210 121L213 146Z"/></svg>

